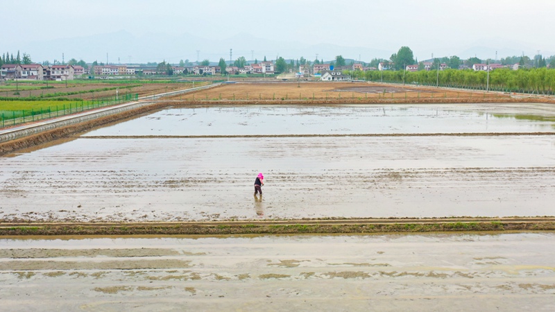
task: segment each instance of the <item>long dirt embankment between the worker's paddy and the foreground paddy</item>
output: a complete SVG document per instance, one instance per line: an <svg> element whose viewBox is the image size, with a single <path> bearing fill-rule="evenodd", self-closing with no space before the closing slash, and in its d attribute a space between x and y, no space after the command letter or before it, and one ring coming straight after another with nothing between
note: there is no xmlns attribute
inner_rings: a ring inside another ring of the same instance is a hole
<svg viewBox="0 0 555 312"><path fill-rule="evenodd" d="M0 223L0 236L370 234L490 231L555 231L555 218L393 218L206 223Z"/></svg>

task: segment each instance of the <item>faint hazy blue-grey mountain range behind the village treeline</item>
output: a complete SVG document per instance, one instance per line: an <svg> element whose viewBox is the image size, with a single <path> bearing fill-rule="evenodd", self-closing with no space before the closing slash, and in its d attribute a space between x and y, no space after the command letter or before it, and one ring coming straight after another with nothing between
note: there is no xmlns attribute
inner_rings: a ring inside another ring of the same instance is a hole
<svg viewBox="0 0 555 312"><path fill-rule="evenodd" d="M94 60L106 62L107 56L110 63L146 63L162 62L162 60L178 63L179 60L187 59L194 62L197 58L199 61L207 59L211 62L218 62L220 58L230 60L230 49L232 49L232 60L236 60L240 56L244 56L247 60L256 59L258 61L262 61L264 56L268 60L275 60L280 56L288 60L297 60L302 56L312 61L318 54L318 59L325 62L333 60L335 55L343 55L345 59L370 62L373 58L388 59L400 46L391 49L377 49L371 46L340 46L332 43L305 44L259 38L245 33L220 40L198 37L189 33L178 36L150 34L136 37L126 31L117 31L102 35L29 42L18 47L18 49L22 53L31 54L31 58L35 62L42 62L43 60L52 62L55 59L62 61L62 53L66 62L71 58L83 59L86 62L93 62ZM493 38L462 47L458 53L452 55L458 55L461 59L473 56L493 59L495 58L495 51L497 51L497 58L499 59L506 56L522 55L523 52L525 55L533 56L537 52L533 50L532 46L514 40ZM431 54L427 51L418 53L413 47L411 49L413 49L415 56L422 55L422 59L429 58ZM540 51L540 53L546 56L555 54L550 51ZM450 55L437 53L434 56Z"/></svg>

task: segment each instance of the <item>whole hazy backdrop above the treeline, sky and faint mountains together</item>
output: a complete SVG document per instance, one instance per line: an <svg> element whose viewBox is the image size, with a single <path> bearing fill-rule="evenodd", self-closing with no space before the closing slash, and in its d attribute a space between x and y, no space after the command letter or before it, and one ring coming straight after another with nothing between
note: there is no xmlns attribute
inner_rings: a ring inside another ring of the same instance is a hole
<svg viewBox="0 0 555 312"><path fill-rule="evenodd" d="M479 0L51 0L3 1L0 53L43 60L178 62L277 55L369 62L409 46L434 56L497 58L555 54L555 1ZM3 51L1 51L3 50ZM197 54L197 51L200 51ZM344 51L344 52L342 52ZM198 55L198 56L197 56Z"/></svg>

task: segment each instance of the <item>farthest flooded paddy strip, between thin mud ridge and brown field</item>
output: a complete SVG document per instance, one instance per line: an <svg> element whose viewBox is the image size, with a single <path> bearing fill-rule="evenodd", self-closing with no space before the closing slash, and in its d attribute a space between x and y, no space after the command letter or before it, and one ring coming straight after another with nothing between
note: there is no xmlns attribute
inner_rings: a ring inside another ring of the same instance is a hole
<svg viewBox="0 0 555 312"><path fill-rule="evenodd" d="M472 110L460 105L172 108L94 130L87 135L552 132L555 119L540 117Z"/></svg>

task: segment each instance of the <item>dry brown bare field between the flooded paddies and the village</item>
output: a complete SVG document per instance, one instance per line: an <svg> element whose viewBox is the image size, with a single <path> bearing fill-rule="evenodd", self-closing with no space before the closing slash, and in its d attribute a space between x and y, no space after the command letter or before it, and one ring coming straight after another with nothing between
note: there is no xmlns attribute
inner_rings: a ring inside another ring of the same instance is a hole
<svg viewBox="0 0 555 312"><path fill-rule="evenodd" d="M442 98L468 99L508 99L509 94L496 92L469 92L452 89L436 89L432 87L416 87L409 85L385 85L363 82L317 82L317 83L235 83L212 89L194 92L173 99L187 101L237 101L237 100L353 100L353 101L386 101L386 100L438 100Z"/></svg>

